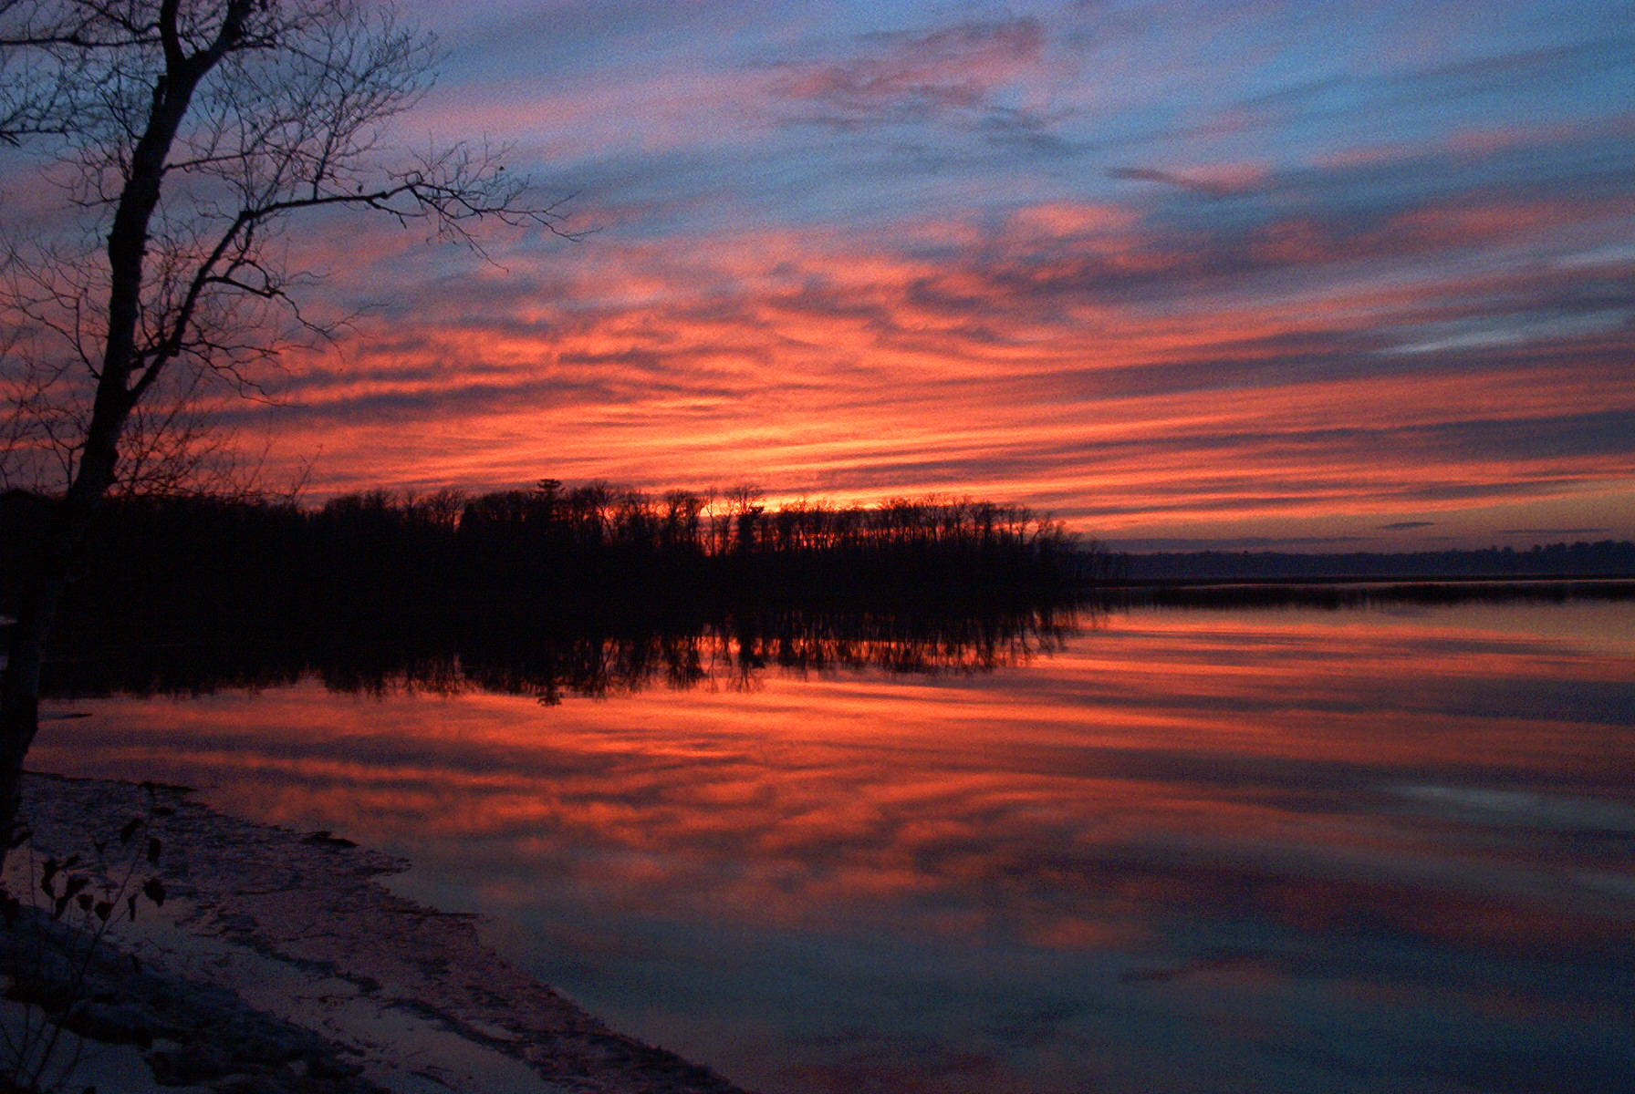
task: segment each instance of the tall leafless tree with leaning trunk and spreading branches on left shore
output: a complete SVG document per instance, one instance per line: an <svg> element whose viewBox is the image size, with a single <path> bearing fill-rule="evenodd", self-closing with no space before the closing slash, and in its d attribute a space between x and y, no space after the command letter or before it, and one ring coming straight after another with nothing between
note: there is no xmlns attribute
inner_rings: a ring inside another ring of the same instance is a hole
<svg viewBox="0 0 1635 1094"><path fill-rule="evenodd" d="M0 834L57 601L144 408L198 376L253 394L283 348L332 330L302 309L294 217L370 211L473 248L484 222L561 233L502 149L387 145L435 59L368 0L0 0L0 140L34 139L70 222L10 255L21 394L70 459L0 683ZM60 411L74 392L88 411Z"/></svg>

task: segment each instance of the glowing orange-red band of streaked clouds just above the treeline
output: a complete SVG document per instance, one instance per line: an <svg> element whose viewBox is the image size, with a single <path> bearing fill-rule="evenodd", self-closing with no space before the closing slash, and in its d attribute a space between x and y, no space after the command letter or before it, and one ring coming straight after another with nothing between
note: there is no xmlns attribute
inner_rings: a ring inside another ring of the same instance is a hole
<svg viewBox="0 0 1635 1094"><path fill-rule="evenodd" d="M1040 202L891 247L589 242L394 302L293 369L281 431L322 447L320 491L749 477L997 495L1092 534L1525 505L1630 478L1628 327L1579 302L1601 266L1440 263L1615 216L1494 199L1198 235Z"/></svg>

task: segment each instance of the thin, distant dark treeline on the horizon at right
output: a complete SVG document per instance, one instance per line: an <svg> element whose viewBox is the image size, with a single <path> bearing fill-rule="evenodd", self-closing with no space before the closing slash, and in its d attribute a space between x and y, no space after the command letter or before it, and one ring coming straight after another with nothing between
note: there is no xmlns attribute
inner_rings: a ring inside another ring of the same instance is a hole
<svg viewBox="0 0 1635 1094"><path fill-rule="evenodd" d="M1131 581L1254 581L1334 578L1635 576L1635 544L1537 544L1530 550L1421 550L1301 555L1270 550L1118 555L1105 565Z"/></svg>

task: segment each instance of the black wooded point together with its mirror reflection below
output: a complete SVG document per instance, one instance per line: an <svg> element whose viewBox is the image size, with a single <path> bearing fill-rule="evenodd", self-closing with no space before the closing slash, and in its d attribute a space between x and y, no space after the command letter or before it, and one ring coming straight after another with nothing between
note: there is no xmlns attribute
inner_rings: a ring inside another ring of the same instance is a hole
<svg viewBox="0 0 1635 1094"><path fill-rule="evenodd" d="M0 498L8 581L51 501ZM304 676L343 691L615 694L764 671L988 671L1059 645L1105 557L1022 506L760 505L590 483L319 508L110 500L64 599L57 696ZM7 603L16 594L3 589Z"/></svg>

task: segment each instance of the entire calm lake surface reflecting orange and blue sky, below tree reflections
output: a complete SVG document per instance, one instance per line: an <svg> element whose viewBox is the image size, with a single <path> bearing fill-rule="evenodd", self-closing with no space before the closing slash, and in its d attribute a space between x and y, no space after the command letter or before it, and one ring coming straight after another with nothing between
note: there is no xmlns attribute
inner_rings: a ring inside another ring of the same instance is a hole
<svg viewBox="0 0 1635 1094"><path fill-rule="evenodd" d="M768 1094L1635 1089L1635 601L1113 614L992 673L59 704Z"/></svg>

